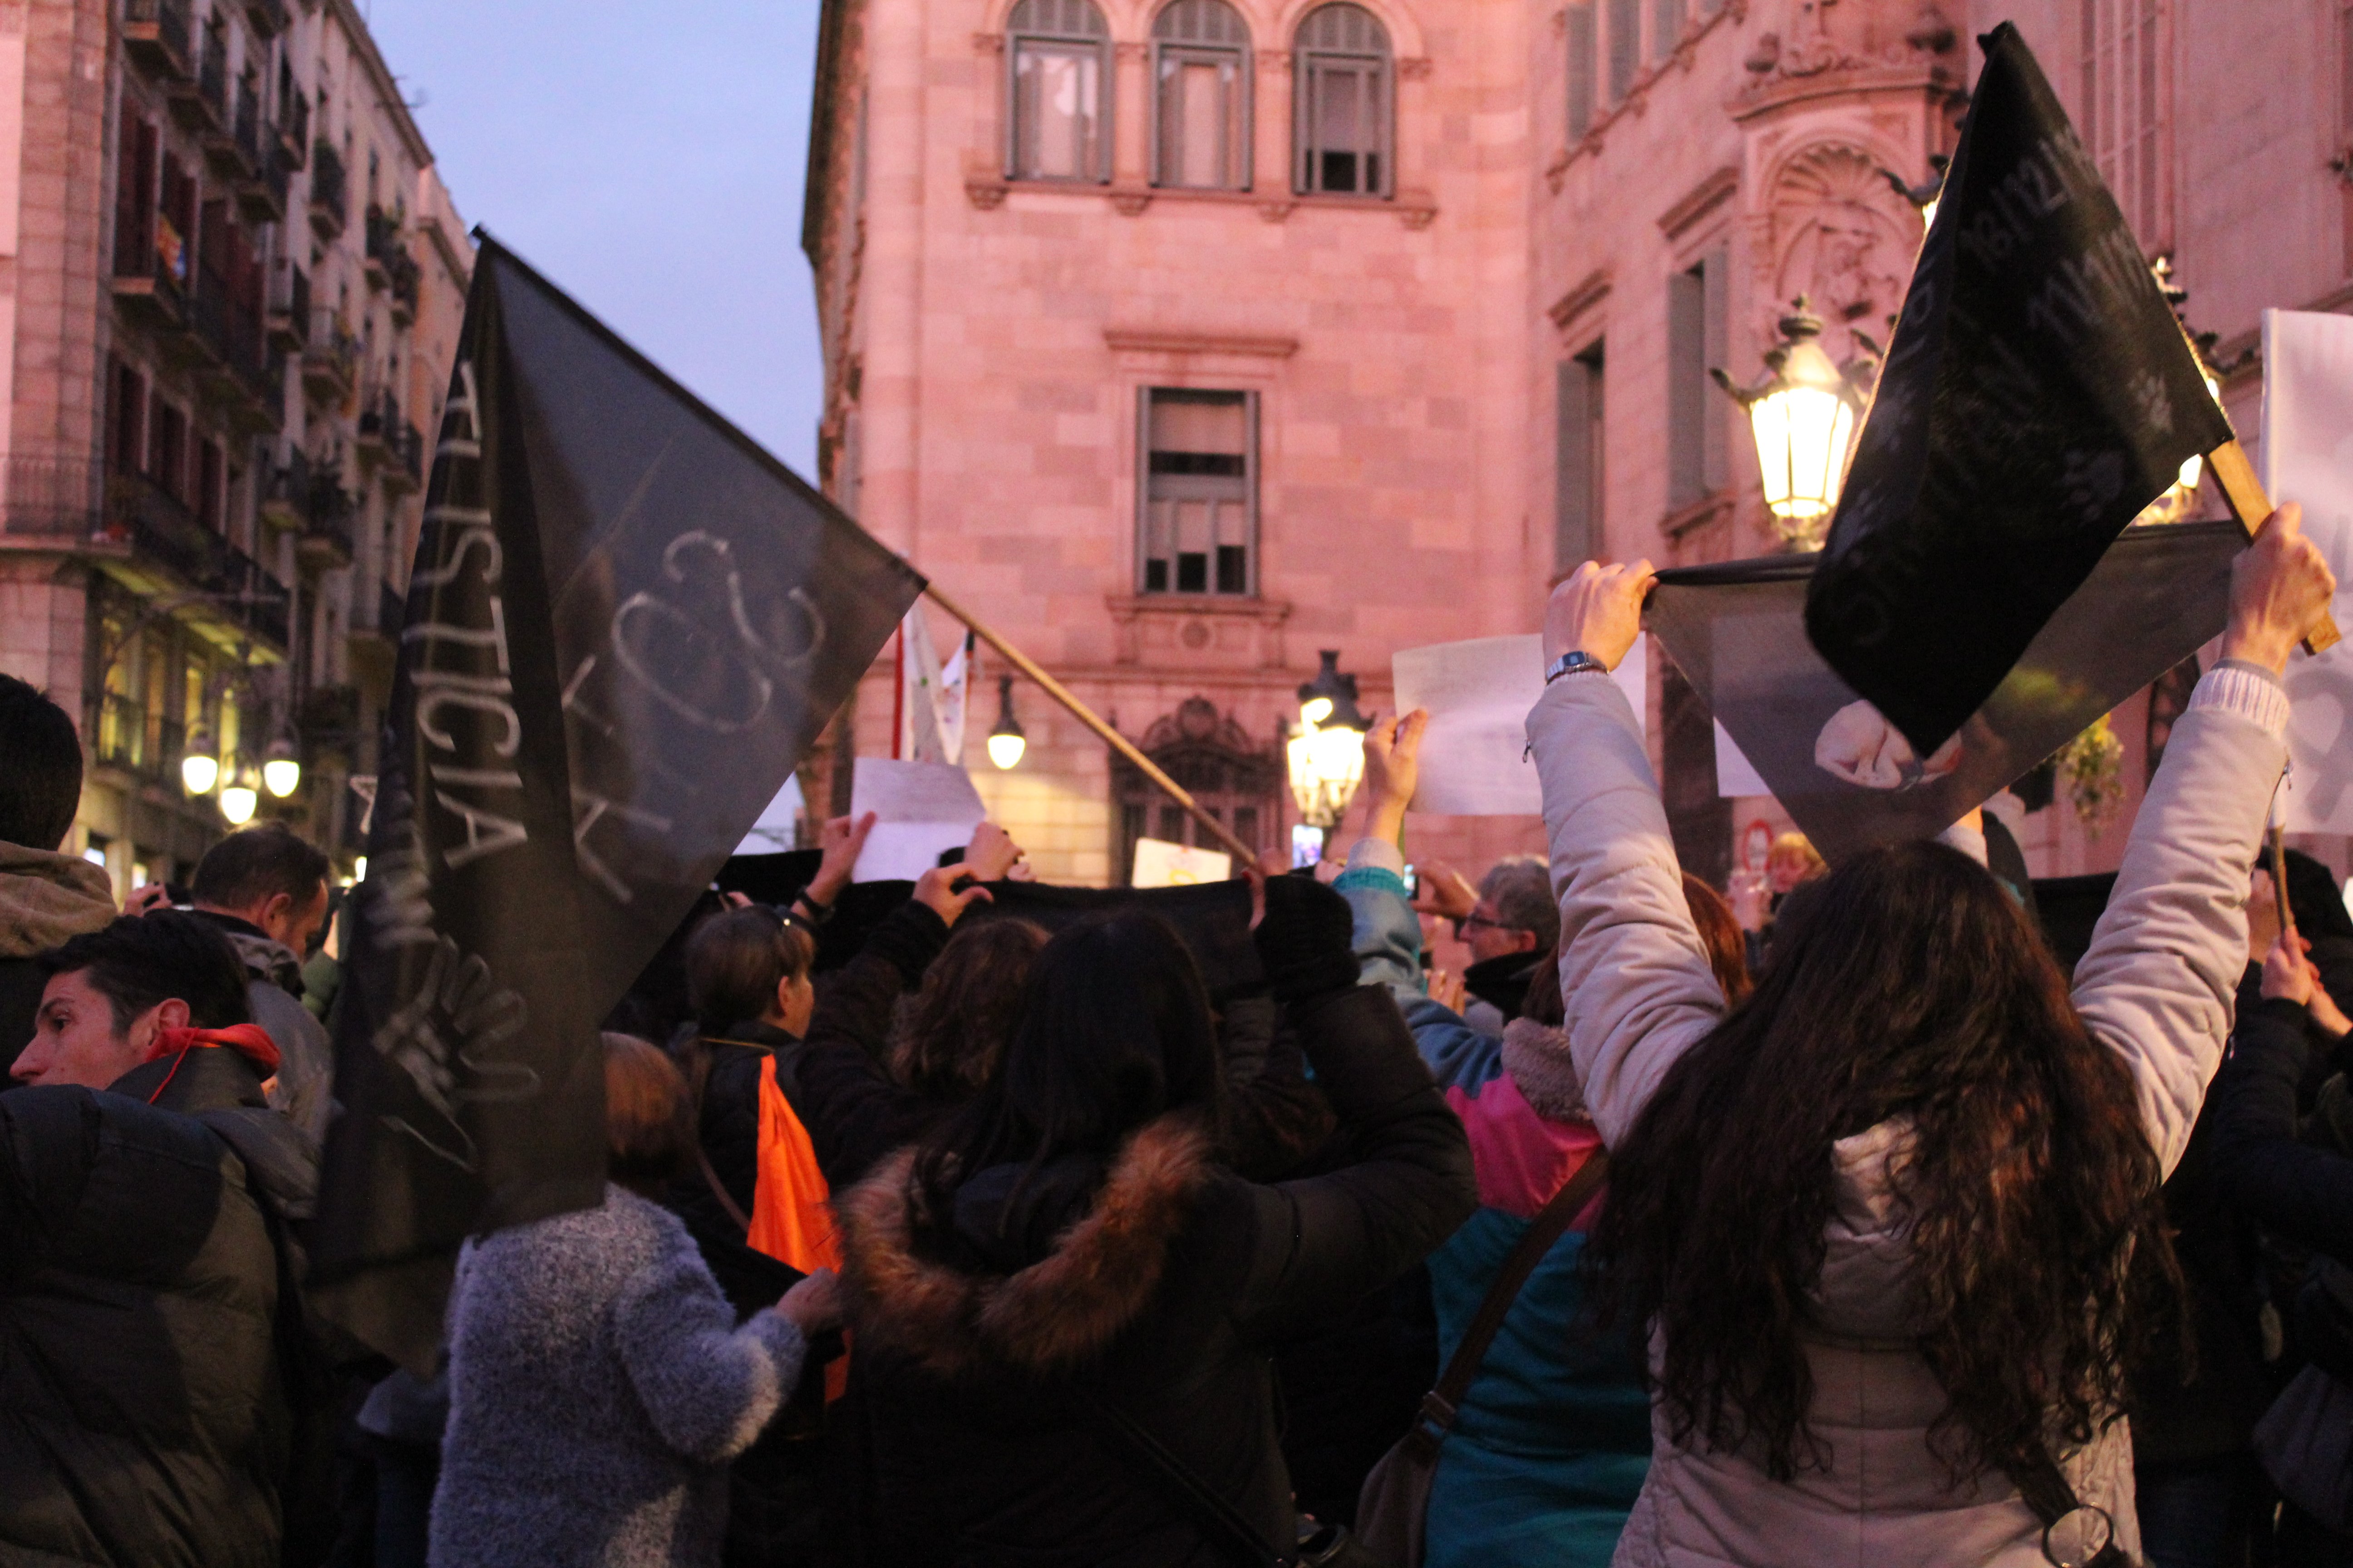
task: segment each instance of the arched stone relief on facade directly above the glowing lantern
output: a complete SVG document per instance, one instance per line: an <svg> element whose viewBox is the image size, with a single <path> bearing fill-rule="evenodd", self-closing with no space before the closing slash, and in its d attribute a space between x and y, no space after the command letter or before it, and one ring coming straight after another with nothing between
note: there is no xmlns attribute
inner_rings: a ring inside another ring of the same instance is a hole
<svg viewBox="0 0 2353 1568"><path fill-rule="evenodd" d="M1767 197L1769 244L1755 341L1772 343L1784 301L1807 296L1824 320L1833 362L1854 357L1857 331L1887 343L1887 317L1904 303L1920 214L1899 197L1878 158L1821 141L1781 165Z"/></svg>

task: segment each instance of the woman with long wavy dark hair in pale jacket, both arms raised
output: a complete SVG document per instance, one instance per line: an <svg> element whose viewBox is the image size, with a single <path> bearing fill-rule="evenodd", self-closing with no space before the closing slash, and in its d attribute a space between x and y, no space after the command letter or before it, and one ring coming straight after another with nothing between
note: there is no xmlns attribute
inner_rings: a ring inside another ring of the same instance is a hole
<svg viewBox="0 0 2353 1568"><path fill-rule="evenodd" d="M2026 1566L2052 1521L2132 1552L2118 1410L2172 1274L2158 1182L2231 1027L2280 670L2334 578L2294 508L2235 564L2073 994L1984 867L1906 844L1793 900L1729 1016L1640 729L1579 668L1626 656L1647 581L1555 590L1527 722L1569 1048L1614 1150L1593 1255L1652 1335L1617 1561Z"/></svg>

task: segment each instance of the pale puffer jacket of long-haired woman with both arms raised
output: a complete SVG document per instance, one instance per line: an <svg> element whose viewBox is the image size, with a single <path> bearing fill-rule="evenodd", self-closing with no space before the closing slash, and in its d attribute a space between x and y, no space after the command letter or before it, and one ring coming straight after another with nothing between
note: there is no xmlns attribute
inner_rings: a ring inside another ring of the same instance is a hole
<svg viewBox="0 0 2353 1568"><path fill-rule="evenodd" d="M2174 726L2108 912L2075 969L2075 1009L2132 1067L2141 1117L2174 1168L2231 1032L2247 961L2245 898L2287 698L2252 665L2212 670ZM1553 891L1567 938L1569 1053L1607 1143L1668 1065L1715 1027L1722 994L1682 903L1659 785L1617 682L1555 679L1527 717L1544 776ZM2000 1474L1955 1490L1927 1448L1944 1389L1913 1349L1908 1255L1889 1192L1901 1121L1838 1143L1838 1211L1817 1286L1814 1432L1828 1469L1772 1481L1741 1453L1680 1448L1652 1420L1652 1467L1617 1568L2040 1568L2040 1523ZM2064 1467L2139 1549L2122 1422Z"/></svg>

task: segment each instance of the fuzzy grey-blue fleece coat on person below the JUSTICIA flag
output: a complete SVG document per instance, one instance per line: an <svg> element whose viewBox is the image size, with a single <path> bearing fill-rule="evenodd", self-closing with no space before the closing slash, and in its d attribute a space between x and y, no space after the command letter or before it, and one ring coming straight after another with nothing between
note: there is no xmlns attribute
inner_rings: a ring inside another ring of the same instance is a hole
<svg viewBox="0 0 2353 1568"><path fill-rule="evenodd" d="M715 1568L727 1460L793 1392L802 1349L774 1312L736 1328L678 1215L619 1187L471 1241L433 1568Z"/></svg>

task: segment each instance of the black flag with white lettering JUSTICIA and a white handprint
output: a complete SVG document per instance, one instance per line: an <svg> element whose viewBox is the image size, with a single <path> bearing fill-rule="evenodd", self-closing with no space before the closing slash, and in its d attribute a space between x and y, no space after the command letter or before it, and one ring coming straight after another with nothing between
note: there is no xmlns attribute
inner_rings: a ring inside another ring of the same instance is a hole
<svg viewBox="0 0 2353 1568"><path fill-rule="evenodd" d="M428 1366L459 1244L602 1201L595 1027L922 578L482 240L336 1018L313 1274Z"/></svg>

